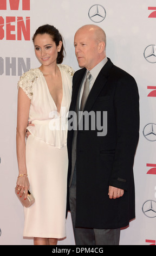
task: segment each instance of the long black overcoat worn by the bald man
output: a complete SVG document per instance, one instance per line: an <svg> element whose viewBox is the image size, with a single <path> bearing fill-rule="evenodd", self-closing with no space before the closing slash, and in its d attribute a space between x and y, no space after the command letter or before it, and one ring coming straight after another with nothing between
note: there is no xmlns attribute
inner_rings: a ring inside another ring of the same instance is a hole
<svg viewBox="0 0 156 256"><path fill-rule="evenodd" d="M86 68L75 72L69 111L75 111L77 93ZM135 218L133 163L139 139L139 94L134 78L113 65L110 59L90 90L84 111L107 111L107 135L99 130L77 131L76 227L111 229L126 227ZM105 124L105 123L104 123ZM73 130L68 130L68 188L72 167ZM109 185L125 190L124 196L109 199Z"/></svg>

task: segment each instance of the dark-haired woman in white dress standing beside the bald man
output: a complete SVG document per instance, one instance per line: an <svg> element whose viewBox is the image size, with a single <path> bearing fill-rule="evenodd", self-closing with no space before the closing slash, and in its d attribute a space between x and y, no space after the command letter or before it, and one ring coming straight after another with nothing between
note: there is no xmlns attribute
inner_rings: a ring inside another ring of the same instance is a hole
<svg viewBox="0 0 156 256"><path fill-rule="evenodd" d="M30 187L35 197L24 208L23 236L34 237L34 245L56 245L66 236L67 113L74 71L61 64L62 36L54 26L39 27L33 41L41 66L18 82L16 188L27 198Z"/></svg>

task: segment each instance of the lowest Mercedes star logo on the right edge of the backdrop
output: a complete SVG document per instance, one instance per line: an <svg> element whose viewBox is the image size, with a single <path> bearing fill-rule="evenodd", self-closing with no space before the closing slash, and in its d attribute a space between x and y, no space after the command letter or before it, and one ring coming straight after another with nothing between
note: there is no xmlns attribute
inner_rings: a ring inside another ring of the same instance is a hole
<svg viewBox="0 0 156 256"><path fill-rule="evenodd" d="M156 202L153 200L147 200L142 206L142 212L148 218L156 217Z"/></svg>

